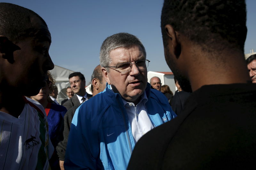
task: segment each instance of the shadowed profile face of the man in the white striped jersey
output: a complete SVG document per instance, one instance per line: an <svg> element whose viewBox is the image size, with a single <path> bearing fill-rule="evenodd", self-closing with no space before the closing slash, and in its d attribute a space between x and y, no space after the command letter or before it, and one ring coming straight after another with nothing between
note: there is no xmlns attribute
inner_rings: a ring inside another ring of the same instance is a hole
<svg viewBox="0 0 256 170"><path fill-rule="evenodd" d="M51 34L39 18L32 16L30 19L36 34L13 42L20 49L13 52L14 62L6 63L2 68L7 84L26 96L37 94L46 85L47 70L54 68L48 53Z"/></svg>

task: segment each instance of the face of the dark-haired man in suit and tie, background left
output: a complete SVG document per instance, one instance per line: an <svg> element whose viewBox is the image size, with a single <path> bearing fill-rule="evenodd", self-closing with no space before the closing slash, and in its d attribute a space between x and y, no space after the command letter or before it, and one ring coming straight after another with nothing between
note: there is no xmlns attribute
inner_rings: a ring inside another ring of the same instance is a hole
<svg viewBox="0 0 256 170"><path fill-rule="evenodd" d="M85 91L85 80L81 80L79 76L69 78L69 84L72 91L78 95L83 96Z"/></svg>

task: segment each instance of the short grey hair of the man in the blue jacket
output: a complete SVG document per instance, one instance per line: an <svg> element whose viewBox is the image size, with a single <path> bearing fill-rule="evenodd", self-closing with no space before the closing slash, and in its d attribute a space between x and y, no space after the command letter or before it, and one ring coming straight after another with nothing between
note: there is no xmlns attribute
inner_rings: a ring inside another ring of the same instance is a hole
<svg viewBox="0 0 256 170"><path fill-rule="evenodd" d="M146 50L136 36L129 33L117 33L109 36L106 38L106 40L103 41L100 48L100 66L109 66L109 64L112 62L110 57L110 52L112 50L119 47L128 48L133 45L140 46L146 58ZM109 71L108 67L106 67L106 71Z"/></svg>

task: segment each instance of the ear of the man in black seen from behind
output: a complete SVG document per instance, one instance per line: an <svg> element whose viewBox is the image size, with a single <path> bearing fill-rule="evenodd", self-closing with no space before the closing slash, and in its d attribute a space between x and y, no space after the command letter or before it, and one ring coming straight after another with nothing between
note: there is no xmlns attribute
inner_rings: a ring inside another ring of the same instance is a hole
<svg viewBox="0 0 256 170"><path fill-rule="evenodd" d="M181 53L180 34L169 24L167 24L164 28L167 36L169 37L168 47L173 51L176 58L179 58Z"/></svg>

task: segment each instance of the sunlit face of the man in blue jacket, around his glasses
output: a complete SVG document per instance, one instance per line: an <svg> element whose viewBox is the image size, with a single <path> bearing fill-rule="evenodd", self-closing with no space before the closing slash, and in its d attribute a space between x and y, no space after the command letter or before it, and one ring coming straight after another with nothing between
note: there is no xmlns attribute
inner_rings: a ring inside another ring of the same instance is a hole
<svg viewBox="0 0 256 170"><path fill-rule="evenodd" d="M110 52L110 57L112 59L110 66L126 62L135 63L145 59L142 48L137 45L129 48L116 48ZM138 102L147 86L147 69L138 70L136 64L132 64L131 71L123 75L114 68L109 69L108 73L103 69L103 75L113 91L118 92L126 101Z"/></svg>

